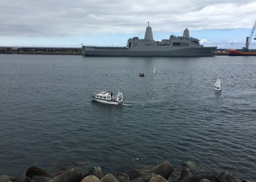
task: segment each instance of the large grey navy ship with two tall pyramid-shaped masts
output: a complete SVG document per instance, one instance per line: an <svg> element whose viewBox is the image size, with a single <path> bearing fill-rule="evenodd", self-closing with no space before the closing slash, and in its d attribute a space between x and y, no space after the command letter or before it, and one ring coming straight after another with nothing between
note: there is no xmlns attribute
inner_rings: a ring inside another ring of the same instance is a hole
<svg viewBox="0 0 256 182"><path fill-rule="evenodd" d="M85 56L213 56L217 47L204 47L199 41L189 36L187 28L183 36L171 35L169 39L155 41L148 23L144 39L130 38L126 47L82 46L82 48Z"/></svg>

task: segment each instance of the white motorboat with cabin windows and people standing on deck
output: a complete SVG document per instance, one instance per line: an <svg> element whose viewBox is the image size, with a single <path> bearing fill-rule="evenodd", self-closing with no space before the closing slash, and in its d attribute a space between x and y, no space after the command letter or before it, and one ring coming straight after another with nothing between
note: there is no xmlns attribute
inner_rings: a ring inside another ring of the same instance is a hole
<svg viewBox="0 0 256 182"><path fill-rule="evenodd" d="M124 103L124 98L123 98L123 93L121 92L121 88L119 87L117 91L117 95L114 96L113 93L111 92L106 92L106 91L100 91L96 94L91 96L93 100L100 102L100 103L105 103L105 104L111 104L111 105L120 105Z"/></svg>

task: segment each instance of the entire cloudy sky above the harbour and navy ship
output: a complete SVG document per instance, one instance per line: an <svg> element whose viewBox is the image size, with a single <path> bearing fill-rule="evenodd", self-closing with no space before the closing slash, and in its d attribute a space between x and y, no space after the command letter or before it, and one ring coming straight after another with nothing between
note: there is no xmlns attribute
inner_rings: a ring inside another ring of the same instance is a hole
<svg viewBox="0 0 256 182"><path fill-rule="evenodd" d="M188 28L204 46L239 49L255 19L255 0L1 0L0 46L126 46L149 21L155 40Z"/></svg>

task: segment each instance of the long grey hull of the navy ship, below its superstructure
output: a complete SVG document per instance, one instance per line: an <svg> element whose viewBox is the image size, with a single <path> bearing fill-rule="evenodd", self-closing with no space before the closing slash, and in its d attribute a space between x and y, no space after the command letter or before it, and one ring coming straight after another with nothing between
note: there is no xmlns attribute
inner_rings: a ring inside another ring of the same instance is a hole
<svg viewBox="0 0 256 182"><path fill-rule="evenodd" d="M161 50L133 50L126 47L86 47L83 46L85 56L213 56L217 47L190 47Z"/></svg>

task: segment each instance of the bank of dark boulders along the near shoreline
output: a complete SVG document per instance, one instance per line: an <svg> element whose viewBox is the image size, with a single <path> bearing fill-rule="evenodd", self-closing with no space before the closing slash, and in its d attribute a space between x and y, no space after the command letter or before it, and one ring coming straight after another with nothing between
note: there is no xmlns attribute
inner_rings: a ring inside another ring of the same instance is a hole
<svg viewBox="0 0 256 182"><path fill-rule="evenodd" d="M181 171L181 177L173 182L247 182L236 178L230 173L223 172L218 176L214 174L195 175L186 166ZM69 170L62 169L53 176L35 166L29 167L26 171L26 179L11 178L8 182L170 182L168 181L174 168L168 161L163 161L148 169L133 169L130 174L123 172L106 174L100 166L94 166L90 171L83 169L83 166L73 167Z"/></svg>

